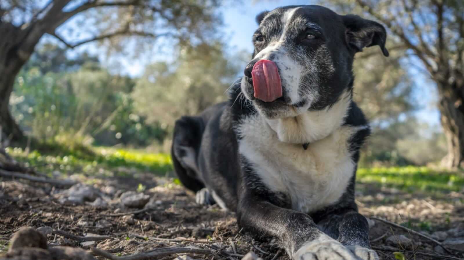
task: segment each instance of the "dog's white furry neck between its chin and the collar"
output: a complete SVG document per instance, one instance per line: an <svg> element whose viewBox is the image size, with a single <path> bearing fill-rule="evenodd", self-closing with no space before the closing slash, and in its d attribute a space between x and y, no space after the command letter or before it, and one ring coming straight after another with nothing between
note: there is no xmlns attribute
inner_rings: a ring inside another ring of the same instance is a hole
<svg viewBox="0 0 464 260"><path fill-rule="evenodd" d="M345 92L332 106L320 111L306 111L301 115L289 118L264 119L265 123L276 132L281 142L299 143L307 147L339 129L351 103L351 95Z"/></svg>

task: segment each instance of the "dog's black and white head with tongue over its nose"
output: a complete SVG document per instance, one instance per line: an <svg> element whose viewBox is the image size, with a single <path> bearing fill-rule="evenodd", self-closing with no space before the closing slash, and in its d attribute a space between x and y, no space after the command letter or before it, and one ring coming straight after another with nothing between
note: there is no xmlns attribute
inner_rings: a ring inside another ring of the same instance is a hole
<svg viewBox="0 0 464 260"><path fill-rule="evenodd" d="M285 6L257 16L253 59L242 92L266 118L297 116L333 105L353 83L354 54L387 34L377 22L322 6Z"/></svg>

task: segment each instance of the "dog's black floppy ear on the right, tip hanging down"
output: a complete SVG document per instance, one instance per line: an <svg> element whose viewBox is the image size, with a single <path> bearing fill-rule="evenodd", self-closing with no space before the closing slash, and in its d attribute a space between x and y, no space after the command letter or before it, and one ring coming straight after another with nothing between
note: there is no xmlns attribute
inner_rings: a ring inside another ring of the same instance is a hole
<svg viewBox="0 0 464 260"><path fill-rule="evenodd" d="M353 14L344 15L342 18L347 28L345 35L347 42L356 52L362 51L364 47L379 45L383 55L389 55L385 48L387 31L383 25Z"/></svg>

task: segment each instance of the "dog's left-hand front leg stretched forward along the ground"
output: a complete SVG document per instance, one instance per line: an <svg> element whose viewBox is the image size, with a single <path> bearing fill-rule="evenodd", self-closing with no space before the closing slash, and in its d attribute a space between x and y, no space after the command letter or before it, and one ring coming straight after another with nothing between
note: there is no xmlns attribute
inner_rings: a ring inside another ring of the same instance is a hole
<svg viewBox="0 0 464 260"><path fill-rule="evenodd" d="M276 237L292 259L359 260L342 243L324 234L307 214L244 197L238 204L238 224L254 234Z"/></svg>

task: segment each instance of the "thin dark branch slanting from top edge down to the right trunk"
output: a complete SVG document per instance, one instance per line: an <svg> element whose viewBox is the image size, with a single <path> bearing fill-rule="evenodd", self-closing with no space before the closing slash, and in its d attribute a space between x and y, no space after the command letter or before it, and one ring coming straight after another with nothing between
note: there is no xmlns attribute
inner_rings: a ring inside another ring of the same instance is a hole
<svg viewBox="0 0 464 260"><path fill-rule="evenodd" d="M430 73L433 72L433 67L432 64L430 64L429 61L427 61L427 58L422 50L420 50L416 45L414 45L406 36L404 31L401 28L398 28L397 26L393 26L392 21L393 20L387 20L382 18L378 13L374 12L374 9L369 6L366 2L363 0L356 0L359 6L361 6L364 10L367 10L367 12L372 15L374 18L378 19L380 22L384 23L385 25L390 28L390 30L397 35L398 37L401 38L401 40L406 44L406 46L410 49L412 49L416 55L419 57L419 59L424 62L425 67L427 70L429 70ZM434 58L434 57L431 57Z"/></svg>

